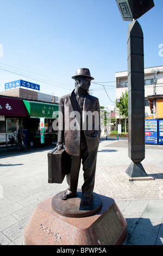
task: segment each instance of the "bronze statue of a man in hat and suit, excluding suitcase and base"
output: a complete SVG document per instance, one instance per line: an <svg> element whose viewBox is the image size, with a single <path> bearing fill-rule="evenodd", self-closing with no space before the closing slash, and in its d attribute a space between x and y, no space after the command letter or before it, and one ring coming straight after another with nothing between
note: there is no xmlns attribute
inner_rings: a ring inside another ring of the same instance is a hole
<svg viewBox="0 0 163 256"><path fill-rule="evenodd" d="M61 196L62 200L76 197L80 163L84 171L81 204L90 204L95 185L95 172L100 129L100 108L97 97L88 93L91 80L89 69L78 69L75 80L75 89L71 94L60 97L58 150L62 149L65 141L65 150L72 157L71 170L66 175L68 188Z"/></svg>

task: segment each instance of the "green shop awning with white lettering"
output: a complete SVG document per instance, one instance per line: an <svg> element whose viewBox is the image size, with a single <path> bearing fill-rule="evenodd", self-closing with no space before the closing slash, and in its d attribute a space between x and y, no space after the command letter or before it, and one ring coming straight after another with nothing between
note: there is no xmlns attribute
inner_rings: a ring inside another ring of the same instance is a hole
<svg viewBox="0 0 163 256"><path fill-rule="evenodd" d="M31 118L57 118L58 105L27 100L23 102Z"/></svg>

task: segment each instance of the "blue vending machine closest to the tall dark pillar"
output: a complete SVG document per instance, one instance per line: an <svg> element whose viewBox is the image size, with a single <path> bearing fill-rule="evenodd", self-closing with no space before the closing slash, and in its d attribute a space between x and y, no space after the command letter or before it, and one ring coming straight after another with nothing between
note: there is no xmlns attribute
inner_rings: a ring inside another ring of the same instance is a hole
<svg viewBox="0 0 163 256"><path fill-rule="evenodd" d="M145 120L145 144L158 144L158 119Z"/></svg>

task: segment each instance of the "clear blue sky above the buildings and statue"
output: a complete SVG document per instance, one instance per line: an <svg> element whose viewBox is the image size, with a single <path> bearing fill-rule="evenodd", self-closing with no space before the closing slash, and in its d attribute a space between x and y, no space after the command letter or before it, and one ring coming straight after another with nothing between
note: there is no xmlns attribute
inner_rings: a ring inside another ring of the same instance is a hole
<svg viewBox="0 0 163 256"><path fill-rule="evenodd" d="M154 3L137 20L144 35L145 68L163 64L158 54L163 1ZM89 68L93 82L105 85L110 99L94 83L93 95L111 109L115 72L127 70L128 23L115 0L1 0L0 92L4 83L22 79L40 84L42 93L62 96L74 89L76 70Z"/></svg>

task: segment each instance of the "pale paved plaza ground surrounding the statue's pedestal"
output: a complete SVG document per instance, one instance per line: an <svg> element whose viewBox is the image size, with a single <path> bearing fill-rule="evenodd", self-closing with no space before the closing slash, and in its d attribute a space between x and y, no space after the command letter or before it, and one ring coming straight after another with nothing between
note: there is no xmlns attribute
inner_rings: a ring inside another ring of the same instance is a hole
<svg viewBox="0 0 163 256"><path fill-rule="evenodd" d="M52 147L51 147L52 148ZM37 204L67 188L48 184L50 147L13 153L0 149L0 245L22 245L23 232ZM128 141L101 139L95 192L114 198L127 220L125 245L163 245L163 146L146 145L142 161L153 180L129 181ZM79 184L83 184L80 171Z"/></svg>

